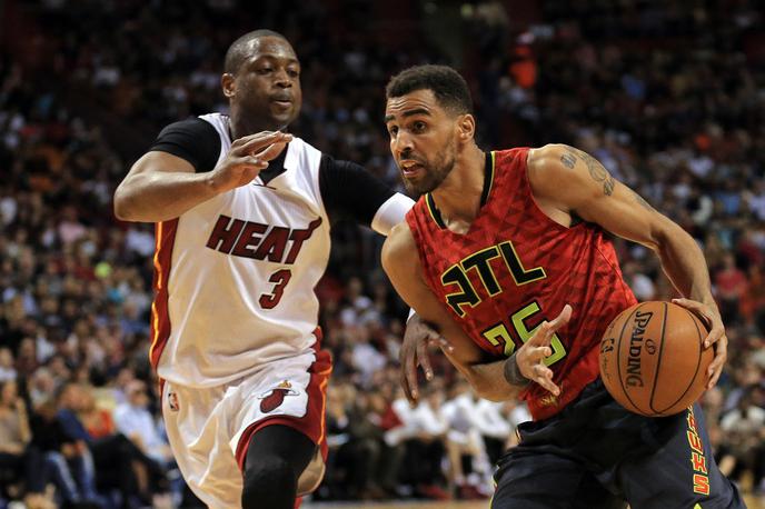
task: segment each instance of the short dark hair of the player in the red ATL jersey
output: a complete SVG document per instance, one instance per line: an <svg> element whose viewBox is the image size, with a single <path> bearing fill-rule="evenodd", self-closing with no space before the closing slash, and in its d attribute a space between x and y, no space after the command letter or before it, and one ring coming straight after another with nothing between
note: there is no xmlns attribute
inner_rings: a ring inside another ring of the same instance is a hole
<svg viewBox="0 0 765 509"><path fill-rule="evenodd" d="M465 78L448 66L415 66L390 78L385 88L386 99L406 96L417 90L430 90L438 104L453 113L473 113L473 98Z"/></svg>

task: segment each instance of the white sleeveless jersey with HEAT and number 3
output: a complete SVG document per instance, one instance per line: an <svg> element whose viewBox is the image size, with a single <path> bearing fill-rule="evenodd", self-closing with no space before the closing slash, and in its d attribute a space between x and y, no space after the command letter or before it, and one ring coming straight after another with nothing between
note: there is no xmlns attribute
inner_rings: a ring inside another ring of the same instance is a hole
<svg viewBox="0 0 765 509"><path fill-rule="evenodd" d="M200 117L231 147L228 117ZM150 359L160 378L212 387L268 362L312 356L329 259L321 152L299 138L285 171L157 224Z"/></svg>

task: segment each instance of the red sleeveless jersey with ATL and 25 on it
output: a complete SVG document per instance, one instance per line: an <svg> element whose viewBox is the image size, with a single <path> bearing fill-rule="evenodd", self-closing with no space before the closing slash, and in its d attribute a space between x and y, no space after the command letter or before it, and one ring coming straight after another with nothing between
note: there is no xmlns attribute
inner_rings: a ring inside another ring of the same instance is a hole
<svg viewBox="0 0 765 509"><path fill-rule="evenodd" d="M521 395L538 420L598 377L603 332L636 299L600 227L566 228L537 207L527 156L527 148L487 154L484 204L465 234L446 228L431 194L406 218L426 283L473 341L497 358L510 356L566 303L574 308L546 359L560 395L537 383Z"/></svg>

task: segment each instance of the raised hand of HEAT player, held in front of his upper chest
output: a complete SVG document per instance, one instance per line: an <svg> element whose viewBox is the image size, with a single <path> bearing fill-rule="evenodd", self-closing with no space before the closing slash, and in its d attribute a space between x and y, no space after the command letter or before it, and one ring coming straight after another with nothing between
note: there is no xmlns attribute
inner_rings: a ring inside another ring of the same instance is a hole
<svg viewBox="0 0 765 509"><path fill-rule="evenodd" d="M220 193L251 182L291 140L292 134L281 131L256 132L235 140L210 174L212 188Z"/></svg>

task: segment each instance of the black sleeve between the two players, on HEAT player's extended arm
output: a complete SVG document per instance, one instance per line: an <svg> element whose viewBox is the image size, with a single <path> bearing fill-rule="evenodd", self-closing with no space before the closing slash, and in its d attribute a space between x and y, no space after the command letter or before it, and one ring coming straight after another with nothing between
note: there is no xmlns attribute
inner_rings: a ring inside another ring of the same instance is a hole
<svg viewBox="0 0 765 509"><path fill-rule="evenodd" d="M364 226L371 224L377 210L395 193L364 167L326 153L321 154L319 189L332 223L350 220Z"/></svg>

